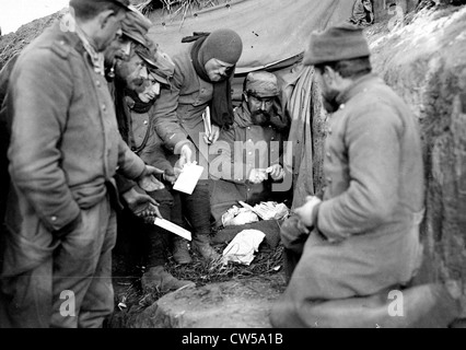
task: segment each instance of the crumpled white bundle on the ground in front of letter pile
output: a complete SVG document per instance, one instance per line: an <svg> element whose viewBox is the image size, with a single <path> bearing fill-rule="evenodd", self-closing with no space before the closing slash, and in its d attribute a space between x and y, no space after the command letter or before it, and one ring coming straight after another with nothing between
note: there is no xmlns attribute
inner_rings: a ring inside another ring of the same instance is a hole
<svg viewBox="0 0 466 350"><path fill-rule="evenodd" d="M258 252L265 236L266 234L258 230L243 230L240 232L223 250L223 265L229 261L251 265L254 259L254 253Z"/></svg>

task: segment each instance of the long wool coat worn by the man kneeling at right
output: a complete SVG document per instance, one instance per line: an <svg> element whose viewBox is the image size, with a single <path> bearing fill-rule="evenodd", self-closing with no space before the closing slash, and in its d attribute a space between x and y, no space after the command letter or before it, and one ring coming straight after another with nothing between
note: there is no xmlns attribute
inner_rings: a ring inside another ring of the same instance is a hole
<svg viewBox="0 0 466 350"><path fill-rule="evenodd" d="M325 145L319 233L305 241L282 304L281 316L295 325L307 323L310 302L406 283L420 261L424 183L416 118L372 74L356 81L338 103ZM286 245L292 247L292 241Z"/></svg>

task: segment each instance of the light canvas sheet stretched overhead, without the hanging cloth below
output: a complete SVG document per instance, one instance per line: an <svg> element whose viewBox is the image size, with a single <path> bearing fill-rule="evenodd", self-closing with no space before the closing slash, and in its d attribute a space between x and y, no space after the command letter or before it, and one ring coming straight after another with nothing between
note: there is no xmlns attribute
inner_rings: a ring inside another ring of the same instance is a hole
<svg viewBox="0 0 466 350"><path fill-rule="evenodd" d="M180 43L182 38L193 32L234 30L244 43L236 68L241 74L300 55L312 31L349 19L352 3L353 0L236 0L188 12L184 20L180 14L171 19L158 11L151 15L154 26L149 36L174 55L187 45Z"/></svg>

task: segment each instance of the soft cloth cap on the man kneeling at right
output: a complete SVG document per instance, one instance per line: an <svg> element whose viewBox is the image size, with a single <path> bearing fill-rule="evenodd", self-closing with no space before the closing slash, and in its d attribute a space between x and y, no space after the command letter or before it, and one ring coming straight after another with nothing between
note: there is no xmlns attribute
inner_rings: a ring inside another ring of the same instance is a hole
<svg viewBox="0 0 466 350"><path fill-rule="evenodd" d="M362 28L345 22L324 32L313 32L303 63L315 66L370 55Z"/></svg>

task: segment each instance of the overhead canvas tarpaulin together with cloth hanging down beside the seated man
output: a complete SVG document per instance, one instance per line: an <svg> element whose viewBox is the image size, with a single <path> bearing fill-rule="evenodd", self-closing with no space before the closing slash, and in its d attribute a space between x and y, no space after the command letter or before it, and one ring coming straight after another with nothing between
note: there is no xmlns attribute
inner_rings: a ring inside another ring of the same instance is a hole
<svg viewBox="0 0 466 350"><path fill-rule="evenodd" d="M149 36L160 47L174 55L188 44L182 44L193 32L232 28L243 39L243 55L236 65L233 100L241 101L245 73L267 69L279 77L283 89L283 105L292 119L284 166L293 177L293 205L302 206L314 194L312 154L312 77L313 71L301 65L302 52L312 31L324 30L351 16L353 0L238 0L179 15L171 22L161 12L152 14L154 26ZM183 23L182 23L183 22ZM162 25L164 23L165 25ZM314 112L315 113L315 112Z"/></svg>

